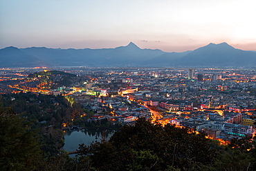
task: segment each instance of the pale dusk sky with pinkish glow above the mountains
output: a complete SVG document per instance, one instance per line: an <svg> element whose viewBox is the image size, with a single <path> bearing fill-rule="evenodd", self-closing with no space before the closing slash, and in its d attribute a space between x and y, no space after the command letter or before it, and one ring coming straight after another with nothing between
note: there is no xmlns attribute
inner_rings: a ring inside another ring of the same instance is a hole
<svg viewBox="0 0 256 171"><path fill-rule="evenodd" d="M0 48L256 51L255 0L0 0Z"/></svg>

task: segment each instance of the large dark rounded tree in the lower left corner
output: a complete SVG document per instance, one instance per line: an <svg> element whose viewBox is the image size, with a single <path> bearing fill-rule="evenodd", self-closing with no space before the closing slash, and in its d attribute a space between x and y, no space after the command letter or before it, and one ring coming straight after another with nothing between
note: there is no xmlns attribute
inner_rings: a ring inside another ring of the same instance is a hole
<svg viewBox="0 0 256 171"><path fill-rule="evenodd" d="M0 108L0 168L33 170L42 154L35 132L10 108Z"/></svg>

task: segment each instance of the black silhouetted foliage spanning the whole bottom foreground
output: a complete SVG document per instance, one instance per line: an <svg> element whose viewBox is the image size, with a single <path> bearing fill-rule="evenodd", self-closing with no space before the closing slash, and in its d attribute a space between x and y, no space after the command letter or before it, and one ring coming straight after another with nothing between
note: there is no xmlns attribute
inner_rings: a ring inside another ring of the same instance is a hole
<svg viewBox="0 0 256 171"><path fill-rule="evenodd" d="M28 122L0 108L1 170L255 170L255 141L221 146L189 128L162 127L145 119L125 126L109 141L80 145L79 156L47 157Z"/></svg>

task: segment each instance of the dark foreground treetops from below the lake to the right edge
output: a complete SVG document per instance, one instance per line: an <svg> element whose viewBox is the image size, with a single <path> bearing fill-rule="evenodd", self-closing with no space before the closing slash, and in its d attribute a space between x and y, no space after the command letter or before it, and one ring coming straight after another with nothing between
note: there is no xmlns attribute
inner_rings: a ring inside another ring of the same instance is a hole
<svg viewBox="0 0 256 171"><path fill-rule="evenodd" d="M138 119L110 141L80 145L79 152L80 159L89 159L97 170L253 170L255 142L246 141L249 152L239 141L221 147L190 128Z"/></svg>

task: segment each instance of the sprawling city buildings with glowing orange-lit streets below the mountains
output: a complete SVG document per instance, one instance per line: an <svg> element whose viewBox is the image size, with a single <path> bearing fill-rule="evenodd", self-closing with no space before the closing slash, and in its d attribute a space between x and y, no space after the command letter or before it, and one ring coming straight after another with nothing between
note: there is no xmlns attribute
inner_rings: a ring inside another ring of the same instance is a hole
<svg viewBox="0 0 256 171"><path fill-rule="evenodd" d="M209 138L223 141L246 136L253 138L256 133L255 70L57 69L73 74L70 85L58 87L62 73L47 68L3 68L0 93L68 96L95 113L89 121L108 119L134 124L139 117L145 117L152 123L193 128L205 132ZM31 77L32 72L42 73Z"/></svg>

